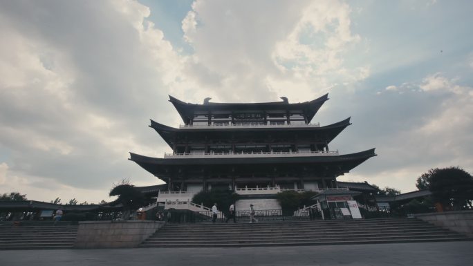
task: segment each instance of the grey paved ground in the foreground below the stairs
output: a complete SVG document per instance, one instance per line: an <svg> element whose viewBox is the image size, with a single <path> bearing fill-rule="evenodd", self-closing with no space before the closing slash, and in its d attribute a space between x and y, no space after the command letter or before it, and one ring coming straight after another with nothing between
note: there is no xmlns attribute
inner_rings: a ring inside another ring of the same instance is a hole
<svg viewBox="0 0 473 266"><path fill-rule="evenodd" d="M473 265L473 241L303 247L0 251L0 266Z"/></svg>

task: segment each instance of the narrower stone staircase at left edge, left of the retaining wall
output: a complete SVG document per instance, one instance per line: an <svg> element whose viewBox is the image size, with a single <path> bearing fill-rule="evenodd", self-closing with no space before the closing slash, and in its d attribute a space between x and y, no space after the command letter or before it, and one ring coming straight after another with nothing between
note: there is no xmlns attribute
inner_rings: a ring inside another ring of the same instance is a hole
<svg viewBox="0 0 473 266"><path fill-rule="evenodd" d="M71 249L77 225L1 226L1 249Z"/></svg>

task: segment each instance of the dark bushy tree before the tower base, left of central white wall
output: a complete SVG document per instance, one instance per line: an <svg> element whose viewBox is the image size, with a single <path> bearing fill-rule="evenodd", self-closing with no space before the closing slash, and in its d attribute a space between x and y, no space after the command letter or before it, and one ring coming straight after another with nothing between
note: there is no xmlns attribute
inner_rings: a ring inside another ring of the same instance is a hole
<svg viewBox="0 0 473 266"><path fill-rule="evenodd" d="M214 202L217 208L228 215L228 209L232 203L239 199L239 195L230 189L211 189L210 191L201 191L192 197L192 202L202 204L205 207L212 207ZM236 210L238 211L238 210Z"/></svg>

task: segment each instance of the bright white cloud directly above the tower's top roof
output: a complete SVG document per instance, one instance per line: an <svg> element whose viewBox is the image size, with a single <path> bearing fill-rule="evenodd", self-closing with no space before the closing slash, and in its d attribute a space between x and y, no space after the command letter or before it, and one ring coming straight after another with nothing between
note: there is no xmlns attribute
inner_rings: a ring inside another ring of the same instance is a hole
<svg viewBox="0 0 473 266"><path fill-rule="evenodd" d="M340 1L194 2L182 23L194 48L185 74L207 95L189 91L187 98L303 102L335 83L366 79L369 66L347 67L342 59L360 40L350 14Z"/></svg>

